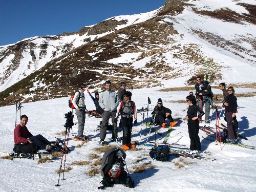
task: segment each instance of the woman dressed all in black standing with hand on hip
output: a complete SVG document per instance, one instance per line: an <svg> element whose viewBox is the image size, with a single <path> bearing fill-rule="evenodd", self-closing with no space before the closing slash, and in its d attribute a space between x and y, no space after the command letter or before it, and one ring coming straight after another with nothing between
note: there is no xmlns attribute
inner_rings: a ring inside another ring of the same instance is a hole
<svg viewBox="0 0 256 192"><path fill-rule="evenodd" d="M187 116L185 117L187 119L187 126L188 126L188 134L190 138L190 150L191 151L198 151L200 153L201 151L201 143L200 138L198 136L199 132L199 121L198 118L202 117L204 115L204 112L199 106L197 105L196 98L193 95L189 95L186 97L188 110L187 110ZM200 112L200 115L197 115L197 113Z"/></svg>

